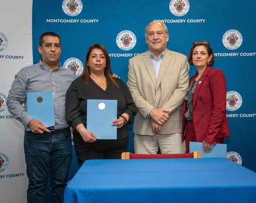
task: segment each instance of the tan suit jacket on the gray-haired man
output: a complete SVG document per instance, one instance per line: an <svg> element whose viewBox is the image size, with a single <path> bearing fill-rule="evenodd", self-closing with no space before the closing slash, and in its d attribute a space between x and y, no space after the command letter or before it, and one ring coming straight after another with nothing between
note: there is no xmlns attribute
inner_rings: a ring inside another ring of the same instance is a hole
<svg viewBox="0 0 256 203"><path fill-rule="evenodd" d="M147 114L152 108L167 108L169 119L160 134L181 133L181 106L189 85L187 58L166 49L158 79L149 51L129 60L127 86L139 113L134 120L134 133L154 135Z"/></svg>

